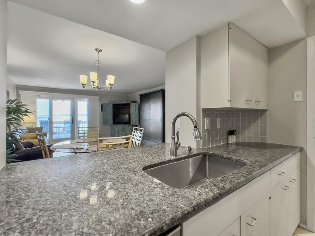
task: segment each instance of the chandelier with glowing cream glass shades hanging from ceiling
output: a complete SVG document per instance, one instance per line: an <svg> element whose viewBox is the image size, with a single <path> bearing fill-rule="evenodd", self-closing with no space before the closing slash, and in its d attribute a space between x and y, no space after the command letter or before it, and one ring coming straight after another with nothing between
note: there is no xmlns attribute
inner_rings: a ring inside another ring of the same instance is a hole
<svg viewBox="0 0 315 236"><path fill-rule="evenodd" d="M108 75L107 80L106 80L106 86L100 86L100 84L99 84L99 65L102 62L99 61L99 53L102 52L102 50L100 48L95 48L95 51L97 52L97 61L95 61L95 62L97 65L97 72L98 73L90 72L91 86L87 86L88 76L86 76L86 75L80 75L80 83L81 83L83 88L90 87L93 89L93 91L99 91L100 89L105 89L105 88L108 89L108 91L110 91L110 89L114 85L115 76Z"/></svg>

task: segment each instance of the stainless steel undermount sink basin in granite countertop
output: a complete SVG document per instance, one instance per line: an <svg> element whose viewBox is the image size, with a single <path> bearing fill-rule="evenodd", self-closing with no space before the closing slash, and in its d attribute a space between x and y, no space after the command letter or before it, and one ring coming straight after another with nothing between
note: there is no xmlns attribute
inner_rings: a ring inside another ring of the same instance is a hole
<svg viewBox="0 0 315 236"><path fill-rule="evenodd" d="M192 188L208 178L215 179L246 164L218 156L200 155L145 170L147 174L173 188Z"/></svg>

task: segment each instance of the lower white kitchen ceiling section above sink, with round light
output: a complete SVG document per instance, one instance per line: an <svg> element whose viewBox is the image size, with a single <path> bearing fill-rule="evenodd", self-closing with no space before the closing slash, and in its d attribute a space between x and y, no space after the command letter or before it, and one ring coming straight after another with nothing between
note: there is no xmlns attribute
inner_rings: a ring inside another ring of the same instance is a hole
<svg viewBox="0 0 315 236"><path fill-rule="evenodd" d="M11 0L163 51L229 21L269 48L305 32L283 0Z"/></svg>

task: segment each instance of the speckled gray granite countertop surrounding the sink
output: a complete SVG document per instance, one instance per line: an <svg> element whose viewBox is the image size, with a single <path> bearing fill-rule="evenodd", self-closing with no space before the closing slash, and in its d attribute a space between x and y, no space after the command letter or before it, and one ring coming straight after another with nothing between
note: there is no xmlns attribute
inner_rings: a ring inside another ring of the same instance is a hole
<svg viewBox="0 0 315 236"><path fill-rule="evenodd" d="M8 164L0 171L0 235L158 235L300 150L246 142L193 149L247 165L182 190L143 171L174 161L165 143Z"/></svg>

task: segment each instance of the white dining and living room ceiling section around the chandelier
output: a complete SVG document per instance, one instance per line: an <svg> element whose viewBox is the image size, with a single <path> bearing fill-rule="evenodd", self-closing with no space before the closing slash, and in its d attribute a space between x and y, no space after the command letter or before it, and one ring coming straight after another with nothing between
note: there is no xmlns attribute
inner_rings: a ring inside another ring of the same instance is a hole
<svg viewBox="0 0 315 236"><path fill-rule="evenodd" d="M111 93L165 84L165 52L8 2L8 77L15 84L82 89L79 75L97 72L95 48L103 50L102 85L116 76Z"/></svg>

